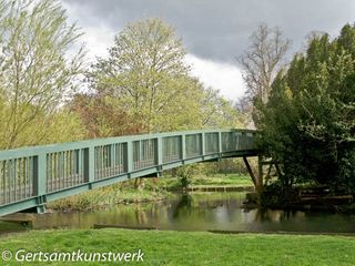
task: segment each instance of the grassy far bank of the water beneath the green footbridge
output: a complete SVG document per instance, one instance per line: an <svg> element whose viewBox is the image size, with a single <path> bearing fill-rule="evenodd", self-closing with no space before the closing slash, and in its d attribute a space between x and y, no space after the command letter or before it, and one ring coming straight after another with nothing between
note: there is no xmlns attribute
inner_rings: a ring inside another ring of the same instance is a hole
<svg viewBox="0 0 355 266"><path fill-rule="evenodd" d="M156 202L168 198L173 193L181 191L178 177L163 176L159 178L141 178L116 183L111 186L89 191L79 195L65 197L47 205L53 211L91 211L114 204L130 204L142 202ZM189 190L209 191L219 188L250 190L253 186L246 175L216 174L213 176L199 175L191 178ZM230 187L230 188L226 188Z"/></svg>

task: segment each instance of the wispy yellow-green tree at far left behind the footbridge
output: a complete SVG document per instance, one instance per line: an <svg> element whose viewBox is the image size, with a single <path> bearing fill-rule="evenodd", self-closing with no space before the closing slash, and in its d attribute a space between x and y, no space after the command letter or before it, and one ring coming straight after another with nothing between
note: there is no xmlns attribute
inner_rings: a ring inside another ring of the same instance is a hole
<svg viewBox="0 0 355 266"><path fill-rule="evenodd" d="M2 0L0 9L2 147L36 145L75 89L84 53L68 51L81 33L55 0Z"/></svg>

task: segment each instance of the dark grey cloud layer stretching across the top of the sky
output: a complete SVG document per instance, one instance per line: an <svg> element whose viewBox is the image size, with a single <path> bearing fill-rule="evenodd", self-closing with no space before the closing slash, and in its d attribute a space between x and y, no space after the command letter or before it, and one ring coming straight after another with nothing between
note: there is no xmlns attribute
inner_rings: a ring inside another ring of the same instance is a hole
<svg viewBox="0 0 355 266"><path fill-rule="evenodd" d="M141 18L160 17L175 27L197 57L235 63L260 22L280 27L298 50L314 30L337 34L354 23L353 0L62 0L80 10L85 25L106 23L119 31Z"/></svg>

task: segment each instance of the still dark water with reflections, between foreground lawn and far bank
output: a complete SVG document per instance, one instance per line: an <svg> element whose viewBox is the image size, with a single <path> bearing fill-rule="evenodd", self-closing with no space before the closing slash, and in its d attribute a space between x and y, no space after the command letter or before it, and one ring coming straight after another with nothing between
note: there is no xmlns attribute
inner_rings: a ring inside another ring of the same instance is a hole
<svg viewBox="0 0 355 266"><path fill-rule="evenodd" d="M115 224L178 231L355 232L354 215L301 211L245 211L241 207L244 198L244 193L203 193L176 195L169 201L155 203L121 204L91 213L38 214L33 227L90 228L94 224Z"/></svg>

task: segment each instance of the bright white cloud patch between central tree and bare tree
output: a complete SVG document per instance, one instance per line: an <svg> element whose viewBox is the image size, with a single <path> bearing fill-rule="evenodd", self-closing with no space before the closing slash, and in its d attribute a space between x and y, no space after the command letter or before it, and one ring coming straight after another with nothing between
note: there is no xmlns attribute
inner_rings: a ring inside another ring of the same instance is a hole
<svg viewBox="0 0 355 266"><path fill-rule="evenodd" d="M221 63L201 59L193 54L186 55L191 72L206 86L220 90L225 98L236 101L245 92L241 70L230 63Z"/></svg>

